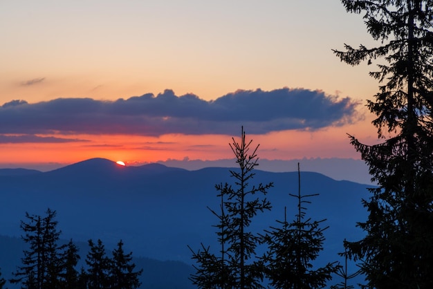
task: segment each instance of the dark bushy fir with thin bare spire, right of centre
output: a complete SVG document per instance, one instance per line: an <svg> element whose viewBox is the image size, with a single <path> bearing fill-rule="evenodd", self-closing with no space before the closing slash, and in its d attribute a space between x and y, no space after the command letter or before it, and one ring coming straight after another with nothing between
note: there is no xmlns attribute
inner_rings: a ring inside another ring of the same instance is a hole
<svg viewBox="0 0 433 289"><path fill-rule="evenodd" d="M322 268L313 269L313 261L323 250L324 230L320 227L326 221L312 221L306 218L306 198L318 194L301 194L300 167L298 163L298 193L289 194L297 199L297 214L292 223L277 221L281 227L270 227L264 239L268 252L263 257L266 277L275 288L323 288L326 281L332 279L331 274L337 272L335 263L328 263Z"/></svg>

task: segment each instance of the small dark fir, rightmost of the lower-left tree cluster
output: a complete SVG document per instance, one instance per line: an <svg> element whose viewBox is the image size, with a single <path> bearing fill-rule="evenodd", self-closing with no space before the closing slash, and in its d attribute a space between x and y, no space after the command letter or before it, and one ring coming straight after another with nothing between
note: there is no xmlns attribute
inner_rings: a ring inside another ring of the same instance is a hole
<svg viewBox="0 0 433 289"><path fill-rule="evenodd" d="M134 272L136 264L131 263L131 261L132 252L125 254L123 242L120 240L118 247L113 250L113 259L110 268L111 288L135 289L140 287L138 277L141 275L142 269Z"/></svg>

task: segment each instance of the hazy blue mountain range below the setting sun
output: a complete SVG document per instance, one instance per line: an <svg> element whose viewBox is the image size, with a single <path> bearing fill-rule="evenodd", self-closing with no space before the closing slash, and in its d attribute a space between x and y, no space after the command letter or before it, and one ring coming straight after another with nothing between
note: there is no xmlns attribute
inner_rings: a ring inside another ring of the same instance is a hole
<svg viewBox="0 0 433 289"><path fill-rule="evenodd" d="M228 168L188 171L160 164L122 167L102 158L47 172L0 169L0 234L20 236L19 223L26 212L43 215L50 207L57 211L64 239L101 239L107 248L122 239L125 249L135 257L191 264L187 245L198 249L203 243L218 250L212 227L217 219L207 206L219 208L214 185L233 181ZM259 232L276 225L275 220L282 220L284 207L288 209L288 219L295 216L297 204L288 194L297 193L297 172L257 170L250 183L269 182L274 183L268 194L273 210L253 221L252 230ZM326 218L324 225L330 226L325 231L326 249L319 262L338 261L343 239L362 236L355 225L367 218L361 205L361 199L368 198L367 187L301 172L302 193L320 194L307 205L308 216ZM86 252L82 254L85 256ZM0 268L3 267L0 256ZM8 276L8 272L2 272Z"/></svg>

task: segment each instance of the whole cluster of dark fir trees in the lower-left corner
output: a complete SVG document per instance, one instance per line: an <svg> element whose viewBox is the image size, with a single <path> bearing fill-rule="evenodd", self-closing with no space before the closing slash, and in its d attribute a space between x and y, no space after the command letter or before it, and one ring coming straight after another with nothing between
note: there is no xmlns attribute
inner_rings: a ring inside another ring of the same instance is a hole
<svg viewBox="0 0 433 289"><path fill-rule="evenodd" d="M57 230L56 212L46 210L45 216L26 213L21 221L21 236L27 243L21 265L13 272L12 284L21 284L23 289L135 289L140 287L142 270L136 270L132 253L125 253L123 242L107 255L104 244L89 240L86 254L86 268L77 268L80 260L78 248L70 240L59 243L61 231ZM6 279L1 277L0 289L5 288Z"/></svg>

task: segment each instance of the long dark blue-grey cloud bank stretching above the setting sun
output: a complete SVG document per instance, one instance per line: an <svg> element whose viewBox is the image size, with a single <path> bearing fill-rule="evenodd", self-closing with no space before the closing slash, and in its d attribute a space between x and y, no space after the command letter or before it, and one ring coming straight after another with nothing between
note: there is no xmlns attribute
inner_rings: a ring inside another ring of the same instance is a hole
<svg viewBox="0 0 433 289"><path fill-rule="evenodd" d="M290 129L321 129L356 122L358 102L322 91L282 88L236 91L201 100L166 90L116 101L59 98L28 104L14 100L0 107L0 133L234 135L243 125L250 134Z"/></svg>

